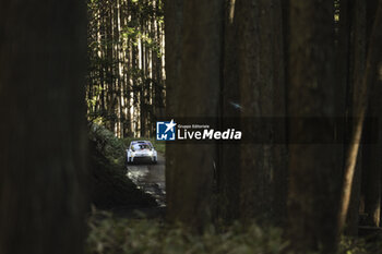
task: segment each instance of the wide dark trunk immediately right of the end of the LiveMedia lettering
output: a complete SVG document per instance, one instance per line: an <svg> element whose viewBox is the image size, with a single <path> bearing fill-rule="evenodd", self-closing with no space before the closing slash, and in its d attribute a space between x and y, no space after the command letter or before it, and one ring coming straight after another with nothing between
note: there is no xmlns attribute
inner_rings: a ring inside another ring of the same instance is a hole
<svg viewBox="0 0 382 254"><path fill-rule="evenodd" d="M236 10L241 129L251 133L261 118L278 121L285 117L282 7L278 0L238 0ZM283 177L286 176L285 143L272 144L272 141L280 140L277 135L283 136L285 129L282 122L275 128L279 129L270 129L265 124L260 130L270 137L270 144L242 144L240 147L239 207L242 218L273 220L285 210L282 204L275 203L277 195L285 194L285 190L275 192L277 185L286 184Z"/></svg>

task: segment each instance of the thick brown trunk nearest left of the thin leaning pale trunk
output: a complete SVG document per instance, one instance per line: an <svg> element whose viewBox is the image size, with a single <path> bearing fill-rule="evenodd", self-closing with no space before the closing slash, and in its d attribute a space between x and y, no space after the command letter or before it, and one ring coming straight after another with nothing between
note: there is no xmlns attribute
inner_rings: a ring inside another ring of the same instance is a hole
<svg viewBox="0 0 382 254"><path fill-rule="evenodd" d="M322 144L332 138L331 119L343 114L334 78L333 2L291 0L289 4L288 111L294 118L289 123L289 239L298 252L322 246L324 253L332 253L343 149ZM312 124L312 117L321 124ZM319 142L310 142L313 138Z"/></svg>

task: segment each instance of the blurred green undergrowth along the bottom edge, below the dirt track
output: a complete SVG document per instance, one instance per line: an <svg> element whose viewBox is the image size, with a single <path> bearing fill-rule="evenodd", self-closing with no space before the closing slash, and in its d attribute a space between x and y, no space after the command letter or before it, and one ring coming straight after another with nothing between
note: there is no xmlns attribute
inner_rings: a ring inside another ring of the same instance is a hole
<svg viewBox="0 0 382 254"><path fill-rule="evenodd" d="M276 254L287 247L279 229L262 229L255 223L235 223L222 231L211 227L205 233L195 234L160 220L118 219L96 213L88 225L88 254Z"/></svg>

